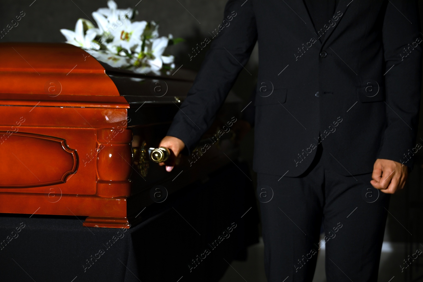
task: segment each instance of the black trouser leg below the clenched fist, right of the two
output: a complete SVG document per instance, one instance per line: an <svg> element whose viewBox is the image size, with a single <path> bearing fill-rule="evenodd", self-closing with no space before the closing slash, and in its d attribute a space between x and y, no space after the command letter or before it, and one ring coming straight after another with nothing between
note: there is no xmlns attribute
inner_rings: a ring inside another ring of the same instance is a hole
<svg viewBox="0 0 423 282"><path fill-rule="evenodd" d="M325 171L324 230L327 282L376 282L390 195L371 174Z"/></svg>

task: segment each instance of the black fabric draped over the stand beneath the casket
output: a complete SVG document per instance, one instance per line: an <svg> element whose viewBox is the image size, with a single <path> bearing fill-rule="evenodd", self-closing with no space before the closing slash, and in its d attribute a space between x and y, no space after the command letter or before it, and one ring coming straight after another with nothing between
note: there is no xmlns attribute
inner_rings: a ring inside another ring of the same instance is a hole
<svg viewBox="0 0 423 282"><path fill-rule="evenodd" d="M239 168L229 164L146 208L148 219L125 230L83 227L83 217L1 214L0 281L218 281L258 242L252 181Z"/></svg>

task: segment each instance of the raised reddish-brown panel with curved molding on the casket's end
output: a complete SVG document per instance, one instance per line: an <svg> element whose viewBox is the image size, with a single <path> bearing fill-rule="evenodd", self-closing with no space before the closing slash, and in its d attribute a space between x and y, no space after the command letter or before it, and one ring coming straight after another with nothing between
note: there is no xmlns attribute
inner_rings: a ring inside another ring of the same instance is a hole
<svg viewBox="0 0 423 282"><path fill-rule="evenodd" d="M0 188L65 183L77 172L78 154L66 140L41 134L0 131Z"/></svg>

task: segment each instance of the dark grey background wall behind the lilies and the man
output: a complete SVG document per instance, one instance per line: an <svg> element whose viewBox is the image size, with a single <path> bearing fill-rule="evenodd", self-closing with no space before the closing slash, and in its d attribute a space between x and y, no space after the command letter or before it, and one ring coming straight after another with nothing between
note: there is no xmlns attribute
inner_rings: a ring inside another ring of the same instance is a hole
<svg viewBox="0 0 423 282"><path fill-rule="evenodd" d="M118 8L135 8L138 11L135 20L158 22L161 36L171 33L174 37L184 38L185 42L169 47L167 52L175 55L176 68L183 65L183 68L197 71L210 44L191 61L188 53L197 43L204 41L209 32L222 22L226 0L141 0L140 2L138 0L117 0L116 3L118 3ZM419 1L420 15L423 14L422 4L422 1ZM33 0L2 0L0 3L0 30L10 24L11 20L21 11L25 12L25 16L19 21L17 27L13 27L4 38L0 39L0 42L63 42L65 38L60 33L60 28L73 30L79 17L93 21L91 13L99 7L106 6L106 0L36 0L35 2ZM256 84L257 45L245 68L251 75L243 69L233 87L233 92L241 97L245 101L244 104L247 105ZM418 140L420 137L423 139L422 127L423 120L420 112ZM423 145L423 141L420 140L420 142ZM247 160L251 170L253 130L244 138L241 148L241 157ZM410 246L410 251L411 247L414 250L417 248L418 244L416 243L423 241L421 225L423 200L422 192L420 192L422 186L420 175L423 170L422 151L420 150L416 154L415 168L409 177L406 188L391 197L390 215L388 215L387 232L385 233L385 241L406 242L406 246ZM252 175L255 182L254 172ZM413 241L415 244L410 245ZM423 249L422 246L420 247ZM404 257L407 257L407 254L412 252L404 250L404 253L406 254ZM398 258L398 265L402 258Z"/></svg>

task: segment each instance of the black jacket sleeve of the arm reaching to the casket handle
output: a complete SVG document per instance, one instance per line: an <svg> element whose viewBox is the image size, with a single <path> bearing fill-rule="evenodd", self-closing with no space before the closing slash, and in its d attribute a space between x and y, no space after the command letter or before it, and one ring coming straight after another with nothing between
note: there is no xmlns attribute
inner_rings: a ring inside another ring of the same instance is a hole
<svg viewBox="0 0 423 282"><path fill-rule="evenodd" d="M211 41L210 49L167 133L185 143L185 153L190 154L209 129L217 110L253 51L257 29L251 2L229 0L225 6L223 23L207 37ZM192 52L192 55L195 53Z"/></svg>

